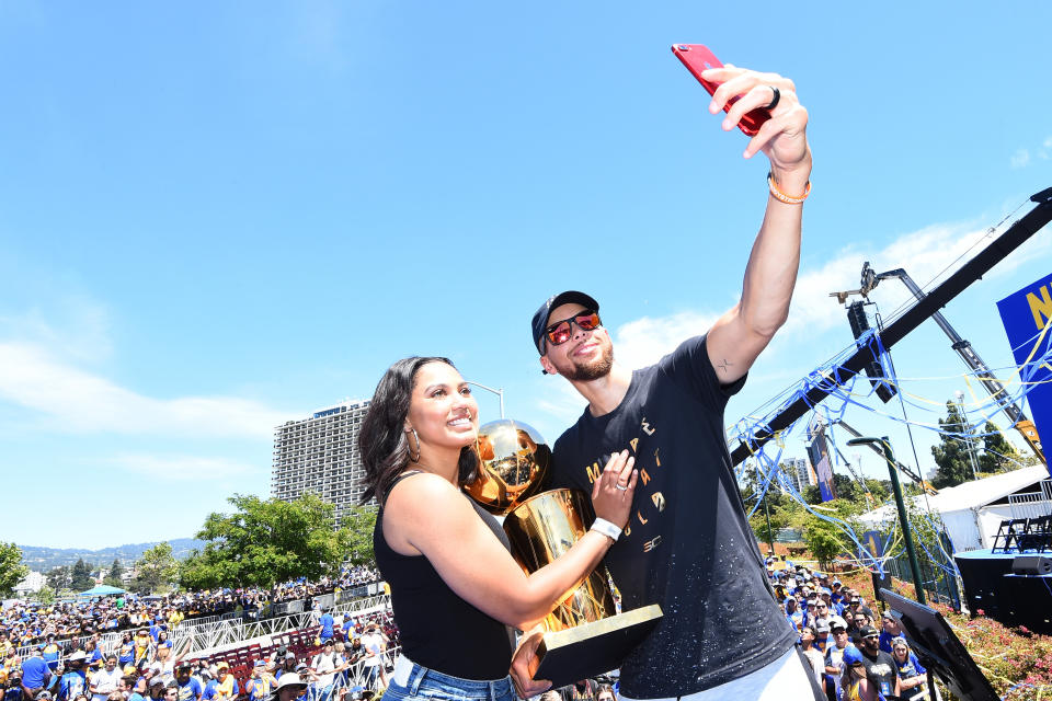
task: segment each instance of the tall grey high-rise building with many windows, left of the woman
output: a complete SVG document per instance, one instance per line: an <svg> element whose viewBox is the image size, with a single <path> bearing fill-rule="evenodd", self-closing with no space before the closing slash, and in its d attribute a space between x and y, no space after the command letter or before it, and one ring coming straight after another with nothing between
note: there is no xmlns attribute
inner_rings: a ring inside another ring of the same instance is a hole
<svg viewBox="0 0 1052 701"><path fill-rule="evenodd" d="M336 507L339 525L365 493L358 430L368 401L344 401L274 429L271 496L290 502L313 492Z"/></svg>

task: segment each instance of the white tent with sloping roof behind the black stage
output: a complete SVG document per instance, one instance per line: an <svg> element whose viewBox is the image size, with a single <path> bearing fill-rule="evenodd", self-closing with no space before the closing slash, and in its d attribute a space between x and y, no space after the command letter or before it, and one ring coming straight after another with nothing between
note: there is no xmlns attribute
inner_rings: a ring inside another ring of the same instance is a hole
<svg viewBox="0 0 1052 701"><path fill-rule="evenodd" d="M1000 521L1013 518L1008 496L1040 492L1041 482L1048 479L1049 471L1044 466L1022 468L939 490L935 496L928 496L928 504L933 512L941 514L954 551L992 548ZM914 504L925 508L924 497L914 497ZM1048 501L1039 506L1045 513L1052 510ZM860 520L876 528L895 517L892 503L862 514Z"/></svg>

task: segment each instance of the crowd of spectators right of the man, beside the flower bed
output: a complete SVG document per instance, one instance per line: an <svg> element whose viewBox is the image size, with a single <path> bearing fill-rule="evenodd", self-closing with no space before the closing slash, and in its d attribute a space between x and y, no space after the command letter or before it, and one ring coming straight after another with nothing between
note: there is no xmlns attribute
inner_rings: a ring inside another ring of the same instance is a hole
<svg viewBox="0 0 1052 701"><path fill-rule="evenodd" d="M878 618L857 590L827 574L767 564L786 620L800 633L800 650L830 701L927 698L927 670L890 611Z"/></svg>

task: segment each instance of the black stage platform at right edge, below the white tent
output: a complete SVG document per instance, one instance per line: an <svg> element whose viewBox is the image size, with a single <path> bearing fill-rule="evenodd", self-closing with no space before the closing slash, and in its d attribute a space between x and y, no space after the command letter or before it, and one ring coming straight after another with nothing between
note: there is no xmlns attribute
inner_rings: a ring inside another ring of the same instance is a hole
<svg viewBox="0 0 1052 701"><path fill-rule="evenodd" d="M1000 549L953 553L972 613L982 611L1005 625L1026 625L1036 633L1052 635L1052 575L1017 575L1011 571L1016 558L1039 554Z"/></svg>

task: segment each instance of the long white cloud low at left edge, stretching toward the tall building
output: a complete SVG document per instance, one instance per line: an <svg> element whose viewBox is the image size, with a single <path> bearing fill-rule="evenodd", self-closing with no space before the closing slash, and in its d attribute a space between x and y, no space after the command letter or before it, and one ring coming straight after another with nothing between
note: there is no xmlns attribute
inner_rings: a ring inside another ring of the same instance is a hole
<svg viewBox="0 0 1052 701"><path fill-rule="evenodd" d="M287 418L236 397L146 397L24 342L0 342L0 399L58 432L264 437Z"/></svg>

